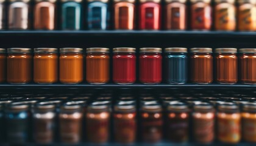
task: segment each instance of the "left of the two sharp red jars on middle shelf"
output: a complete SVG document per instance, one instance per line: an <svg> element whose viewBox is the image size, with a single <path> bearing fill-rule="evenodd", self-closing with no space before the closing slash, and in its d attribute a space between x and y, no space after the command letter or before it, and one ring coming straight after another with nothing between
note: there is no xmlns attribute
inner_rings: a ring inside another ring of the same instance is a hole
<svg viewBox="0 0 256 146"><path fill-rule="evenodd" d="M132 84L136 81L136 49L116 47L113 49L113 82Z"/></svg>

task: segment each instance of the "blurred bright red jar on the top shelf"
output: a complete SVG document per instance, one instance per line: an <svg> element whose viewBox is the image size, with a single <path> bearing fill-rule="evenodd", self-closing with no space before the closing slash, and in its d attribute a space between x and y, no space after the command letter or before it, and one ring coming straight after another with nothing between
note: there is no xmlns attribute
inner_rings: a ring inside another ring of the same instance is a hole
<svg viewBox="0 0 256 146"><path fill-rule="evenodd" d="M160 0L140 0L140 29L159 30L161 26L160 17Z"/></svg>

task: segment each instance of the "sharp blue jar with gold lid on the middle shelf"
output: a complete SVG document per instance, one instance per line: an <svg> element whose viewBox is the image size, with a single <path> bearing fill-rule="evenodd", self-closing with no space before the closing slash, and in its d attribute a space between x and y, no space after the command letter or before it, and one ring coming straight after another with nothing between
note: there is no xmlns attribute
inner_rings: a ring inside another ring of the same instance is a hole
<svg viewBox="0 0 256 146"><path fill-rule="evenodd" d="M165 48L164 76L165 82L180 85L187 83L187 48Z"/></svg>

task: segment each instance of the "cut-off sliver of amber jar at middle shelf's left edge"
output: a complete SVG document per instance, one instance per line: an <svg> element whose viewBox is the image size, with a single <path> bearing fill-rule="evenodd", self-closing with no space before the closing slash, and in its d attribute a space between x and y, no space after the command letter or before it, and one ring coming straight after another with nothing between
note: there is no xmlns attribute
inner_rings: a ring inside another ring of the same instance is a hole
<svg viewBox="0 0 256 146"><path fill-rule="evenodd" d="M0 48L0 83L6 80L6 50Z"/></svg>

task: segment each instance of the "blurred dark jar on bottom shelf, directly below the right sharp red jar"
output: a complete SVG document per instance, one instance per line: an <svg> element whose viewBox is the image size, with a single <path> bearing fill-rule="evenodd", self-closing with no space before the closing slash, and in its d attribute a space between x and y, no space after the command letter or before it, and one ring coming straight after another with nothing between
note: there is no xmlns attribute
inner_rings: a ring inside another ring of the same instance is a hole
<svg viewBox="0 0 256 146"><path fill-rule="evenodd" d="M141 140L160 142L163 137L163 117L161 105L143 105L141 107Z"/></svg>

